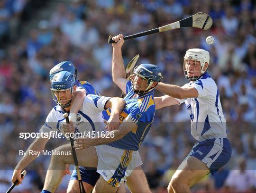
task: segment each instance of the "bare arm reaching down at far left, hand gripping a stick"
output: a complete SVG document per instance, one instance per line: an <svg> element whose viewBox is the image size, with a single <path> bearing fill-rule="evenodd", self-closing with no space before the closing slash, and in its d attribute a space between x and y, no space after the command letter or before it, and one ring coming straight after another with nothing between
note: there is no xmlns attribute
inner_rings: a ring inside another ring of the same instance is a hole
<svg viewBox="0 0 256 193"><path fill-rule="evenodd" d="M36 138L33 143L27 148L25 156L18 162L17 166L15 167L12 175L12 183L18 180L18 184L22 183L21 177L21 170L23 170L31 161L37 158L37 155L33 155L33 153L29 152L42 152L45 149L46 143L48 142L48 138Z"/></svg>

